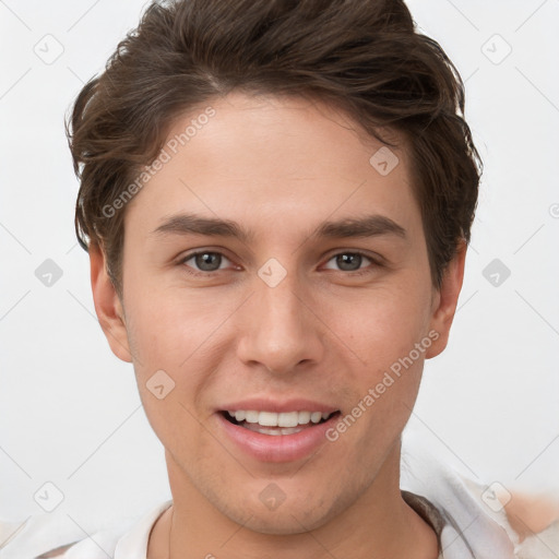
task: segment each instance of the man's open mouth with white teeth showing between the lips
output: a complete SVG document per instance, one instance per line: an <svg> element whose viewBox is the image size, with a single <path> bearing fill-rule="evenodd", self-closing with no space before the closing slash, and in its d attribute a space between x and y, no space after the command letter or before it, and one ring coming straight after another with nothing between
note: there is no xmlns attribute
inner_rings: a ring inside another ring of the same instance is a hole
<svg viewBox="0 0 559 559"><path fill-rule="evenodd" d="M289 436L312 429L341 415L335 412L257 412L221 411L219 414L230 424L260 435Z"/></svg>

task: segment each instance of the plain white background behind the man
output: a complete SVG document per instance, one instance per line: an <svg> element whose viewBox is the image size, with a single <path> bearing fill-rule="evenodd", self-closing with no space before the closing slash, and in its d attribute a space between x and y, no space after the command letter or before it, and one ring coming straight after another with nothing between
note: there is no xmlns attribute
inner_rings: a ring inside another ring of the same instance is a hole
<svg viewBox="0 0 559 559"><path fill-rule="evenodd" d="M64 496L57 510L80 525L136 515L169 496L132 368L112 356L94 314L63 130L72 99L143 5L0 1L5 519L43 512L33 496L46 481ZM409 429L475 479L559 490L559 1L408 5L466 80L466 117L485 160L450 344L426 364ZM51 64L34 52L41 40L56 48L47 34L63 47ZM511 53L495 63L507 44ZM35 276L46 259L63 274L50 287ZM483 275L493 259L511 271L497 287Z"/></svg>

